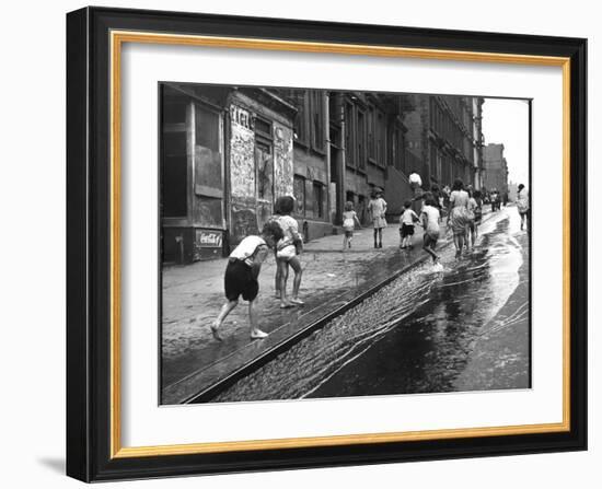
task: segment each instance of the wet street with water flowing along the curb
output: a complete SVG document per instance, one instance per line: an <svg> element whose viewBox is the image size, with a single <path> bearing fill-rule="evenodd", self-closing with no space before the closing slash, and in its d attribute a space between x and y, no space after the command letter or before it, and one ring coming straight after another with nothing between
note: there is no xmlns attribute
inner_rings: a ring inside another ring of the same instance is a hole
<svg viewBox="0 0 602 489"><path fill-rule="evenodd" d="M400 251L400 253L403 253ZM529 237L514 207L382 288L213 401L526 388Z"/></svg>

